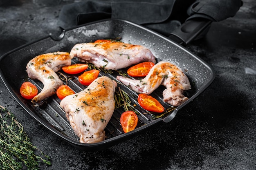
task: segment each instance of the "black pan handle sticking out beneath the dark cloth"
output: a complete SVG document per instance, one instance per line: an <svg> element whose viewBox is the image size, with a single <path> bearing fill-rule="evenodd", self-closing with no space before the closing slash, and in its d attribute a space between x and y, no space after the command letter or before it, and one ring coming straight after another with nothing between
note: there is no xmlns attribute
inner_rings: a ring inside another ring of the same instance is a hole
<svg viewBox="0 0 256 170"><path fill-rule="evenodd" d="M193 18L175 29L168 38L182 46L186 46L189 42L198 38L200 34L202 35L202 33L208 31L211 22L206 18Z"/></svg>

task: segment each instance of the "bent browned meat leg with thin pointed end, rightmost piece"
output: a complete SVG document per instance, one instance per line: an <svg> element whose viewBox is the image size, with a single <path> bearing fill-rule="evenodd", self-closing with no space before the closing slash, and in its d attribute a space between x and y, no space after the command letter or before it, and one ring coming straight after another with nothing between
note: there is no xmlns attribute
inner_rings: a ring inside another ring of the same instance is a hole
<svg viewBox="0 0 256 170"><path fill-rule="evenodd" d="M180 104L188 100L183 95L183 92L191 87L189 79L182 70L170 62L158 62L151 68L148 75L141 80L123 76L117 76L117 79L129 86L133 91L147 95L160 85L164 85L166 89L163 91L163 100L173 106L180 106Z"/></svg>

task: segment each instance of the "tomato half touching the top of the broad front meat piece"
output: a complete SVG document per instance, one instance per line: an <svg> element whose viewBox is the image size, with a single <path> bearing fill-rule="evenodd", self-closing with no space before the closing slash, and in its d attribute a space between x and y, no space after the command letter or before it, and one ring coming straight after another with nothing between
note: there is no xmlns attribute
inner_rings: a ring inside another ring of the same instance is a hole
<svg viewBox="0 0 256 170"><path fill-rule="evenodd" d="M90 71L85 71L82 75L79 75L78 80L81 84L85 86L89 86L94 79L97 79L99 76L99 70L90 70Z"/></svg>

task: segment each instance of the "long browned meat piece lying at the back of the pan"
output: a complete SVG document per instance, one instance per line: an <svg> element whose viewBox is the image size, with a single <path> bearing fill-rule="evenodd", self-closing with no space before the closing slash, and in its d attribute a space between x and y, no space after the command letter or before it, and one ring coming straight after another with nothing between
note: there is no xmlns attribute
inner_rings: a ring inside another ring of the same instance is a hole
<svg viewBox="0 0 256 170"><path fill-rule="evenodd" d="M155 56L146 47L123 42L76 44L70 51L70 55L107 70L126 68L139 62L155 63Z"/></svg>

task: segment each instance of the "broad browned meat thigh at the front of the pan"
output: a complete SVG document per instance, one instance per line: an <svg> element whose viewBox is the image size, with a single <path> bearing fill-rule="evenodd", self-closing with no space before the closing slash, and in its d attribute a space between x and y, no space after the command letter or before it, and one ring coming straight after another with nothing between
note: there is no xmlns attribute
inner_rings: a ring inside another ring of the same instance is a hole
<svg viewBox="0 0 256 170"><path fill-rule="evenodd" d="M98 77L83 91L65 97L60 105L82 143L105 139L107 126L115 109L117 83L106 76Z"/></svg>

